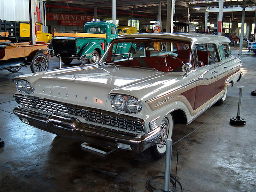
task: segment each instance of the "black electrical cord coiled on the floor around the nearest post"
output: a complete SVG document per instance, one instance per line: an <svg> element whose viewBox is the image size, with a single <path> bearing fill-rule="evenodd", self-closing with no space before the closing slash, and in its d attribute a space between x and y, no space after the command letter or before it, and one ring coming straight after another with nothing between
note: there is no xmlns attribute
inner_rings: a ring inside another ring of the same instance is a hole
<svg viewBox="0 0 256 192"><path fill-rule="evenodd" d="M170 175L170 182L172 183L172 186L173 186L173 188L172 188L171 191L177 192L177 189L176 189L176 182L177 182L177 183L179 184L180 190L181 190L181 192L182 192L182 186L181 186L180 182L177 180L178 150L177 150L177 148L176 148L174 145L172 145L172 146L173 146L173 147L175 148L175 150L176 150L176 153L177 153L177 160L176 160L175 177L173 177L173 176ZM147 190L150 191L150 192L154 192L154 190L156 190L156 188L154 188L154 187L150 184L150 182L151 182L152 180L154 180L154 179L164 179L164 176L158 176L157 174L164 174L164 172L160 171L160 172L155 173L155 174L154 174L151 178L149 178L149 179L147 180L147 182L146 182L146 188L147 188Z"/></svg>

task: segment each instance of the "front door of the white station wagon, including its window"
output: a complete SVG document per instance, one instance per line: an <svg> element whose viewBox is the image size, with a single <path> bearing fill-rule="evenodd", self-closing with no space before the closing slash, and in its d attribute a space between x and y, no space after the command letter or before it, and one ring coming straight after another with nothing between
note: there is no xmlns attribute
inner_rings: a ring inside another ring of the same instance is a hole
<svg viewBox="0 0 256 192"><path fill-rule="evenodd" d="M194 110L208 102L215 96L216 78L219 63L218 52L214 44L196 45L198 68L194 74L197 79Z"/></svg>

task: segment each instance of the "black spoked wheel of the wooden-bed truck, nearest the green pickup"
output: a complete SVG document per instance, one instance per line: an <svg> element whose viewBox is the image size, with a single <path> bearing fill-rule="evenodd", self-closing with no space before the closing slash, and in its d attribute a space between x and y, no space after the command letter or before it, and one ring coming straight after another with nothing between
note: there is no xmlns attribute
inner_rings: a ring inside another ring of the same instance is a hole
<svg viewBox="0 0 256 192"><path fill-rule="evenodd" d="M46 71L49 68L49 60L42 53L36 54L31 62L30 68L33 73Z"/></svg>

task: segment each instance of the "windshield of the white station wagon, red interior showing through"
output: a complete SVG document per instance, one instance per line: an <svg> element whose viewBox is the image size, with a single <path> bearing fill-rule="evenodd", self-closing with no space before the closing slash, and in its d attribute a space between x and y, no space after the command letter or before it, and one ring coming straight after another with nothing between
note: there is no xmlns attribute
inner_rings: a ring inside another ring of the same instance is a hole
<svg viewBox="0 0 256 192"><path fill-rule="evenodd" d="M101 62L154 68L163 72L182 71L185 63L194 65L187 42L157 39L124 40L112 42Z"/></svg>

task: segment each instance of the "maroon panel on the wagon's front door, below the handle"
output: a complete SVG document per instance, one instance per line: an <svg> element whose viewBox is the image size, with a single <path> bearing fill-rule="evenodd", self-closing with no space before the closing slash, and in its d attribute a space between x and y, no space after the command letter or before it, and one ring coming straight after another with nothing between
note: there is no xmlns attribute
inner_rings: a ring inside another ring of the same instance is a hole
<svg viewBox="0 0 256 192"><path fill-rule="evenodd" d="M216 82L196 87L194 110L214 97L215 84Z"/></svg>

